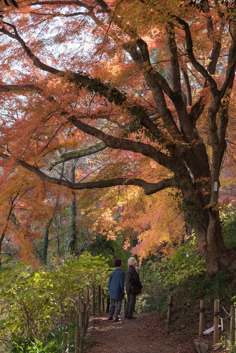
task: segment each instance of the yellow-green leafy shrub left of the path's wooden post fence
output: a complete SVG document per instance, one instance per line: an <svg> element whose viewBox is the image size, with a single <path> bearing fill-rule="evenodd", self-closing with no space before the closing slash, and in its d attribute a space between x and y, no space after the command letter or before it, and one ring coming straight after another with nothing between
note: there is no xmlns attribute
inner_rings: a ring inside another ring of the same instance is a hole
<svg viewBox="0 0 236 353"><path fill-rule="evenodd" d="M45 334L77 318L79 298L86 288L107 284L105 257L85 252L70 257L54 268L31 271L25 263L0 274L0 335L34 336Z"/></svg>

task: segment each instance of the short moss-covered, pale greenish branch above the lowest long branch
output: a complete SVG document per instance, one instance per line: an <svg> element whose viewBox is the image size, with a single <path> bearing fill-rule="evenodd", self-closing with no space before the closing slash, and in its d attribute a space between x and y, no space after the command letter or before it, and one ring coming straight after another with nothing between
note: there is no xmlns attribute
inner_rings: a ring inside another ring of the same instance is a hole
<svg viewBox="0 0 236 353"><path fill-rule="evenodd" d="M66 161L70 161L72 159L75 159L75 158L81 158L81 157L84 157L84 156L89 156L89 155L92 155L96 152L99 152L99 151L102 151L106 148L106 145L105 143L102 141L102 142L99 142L93 146L89 146L87 148L84 148L82 150L79 150L79 151L72 151L72 152L64 152L64 153L61 153L60 154L60 158L56 161L53 161L50 166L48 167L49 170L52 170L53 167L55 167L57 164L60 164L60 163L63 163L63 162L66 162Z"/></svg>

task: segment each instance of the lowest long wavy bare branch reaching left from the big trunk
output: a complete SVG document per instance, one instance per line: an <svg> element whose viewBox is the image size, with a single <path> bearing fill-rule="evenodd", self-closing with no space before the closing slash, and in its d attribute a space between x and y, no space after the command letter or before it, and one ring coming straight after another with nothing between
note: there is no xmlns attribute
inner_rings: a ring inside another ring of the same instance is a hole
<svg viewBox="0 0 236 353"><path fill-rule="evenodd" d="M45 173L41 172L39 168L31 166L30 164L24 161L20 160L19 164L20 166L36 174L40 178L40 180L47 181L48 183L56 185L65 186L73 190L105 188L117 185L136 185L141 187L146 195L151 195L155 192L166 189L167 187L177 186L177 182L175 179L163 179L158 183L148 183L147 181L138 178L115 178L110 180L88 181L87 183L71 183L70 181L66 181L63 179L49 177L49 175L46 175Z"/></svg>

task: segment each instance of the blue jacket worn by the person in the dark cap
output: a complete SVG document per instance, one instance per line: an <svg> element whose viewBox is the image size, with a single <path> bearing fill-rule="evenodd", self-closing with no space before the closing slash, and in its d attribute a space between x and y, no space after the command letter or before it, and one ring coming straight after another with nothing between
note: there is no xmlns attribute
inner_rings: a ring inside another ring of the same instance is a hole
<svg viewBox="0 0 236 353"><path fill-rule="evenodd" d="M122 300L125 290L125 273L120 267L116 267L110 274L109 282L109 296L113 299Z"/></svg>

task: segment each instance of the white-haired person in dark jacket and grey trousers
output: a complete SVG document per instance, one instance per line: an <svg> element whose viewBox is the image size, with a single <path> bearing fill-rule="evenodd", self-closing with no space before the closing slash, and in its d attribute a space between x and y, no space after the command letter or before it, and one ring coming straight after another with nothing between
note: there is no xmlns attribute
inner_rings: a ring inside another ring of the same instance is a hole
<svg viewBox="0 0 236 353"><path fill-rule="evenodd" d="M139 276L139 269L137 267L137 261L134 257L130 257L128 260L128 273L125 279L125 291L127 294L127 301L125 307L125 317L127 319L136 319L134 314L135 304L136 304L136 293L131 292L131 284L132 286L138 286L140 288L143 287L142 282ZM131 282L131 283L130 283Z"/></svg>

